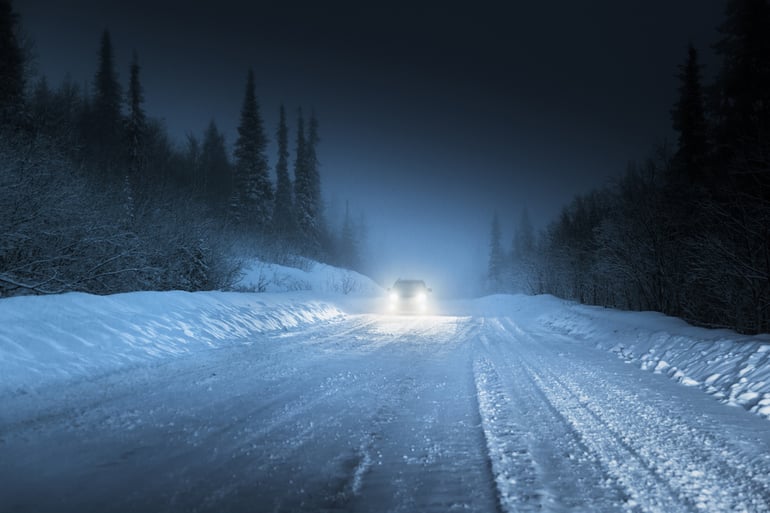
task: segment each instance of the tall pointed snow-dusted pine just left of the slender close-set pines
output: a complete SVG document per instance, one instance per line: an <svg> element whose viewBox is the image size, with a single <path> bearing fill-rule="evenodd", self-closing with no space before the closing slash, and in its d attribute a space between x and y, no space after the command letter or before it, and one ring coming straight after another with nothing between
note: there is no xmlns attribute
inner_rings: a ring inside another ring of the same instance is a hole
<svg viewBox="0 0 770 513"><path fill-rule="evenodd" d="M238 139L235 142L235 190L232 209L236 223L257 231L264 231L268 227L273 210L273 188L268 176L266 147L267 137L259 115L254 72L249 70Z"/></svg>

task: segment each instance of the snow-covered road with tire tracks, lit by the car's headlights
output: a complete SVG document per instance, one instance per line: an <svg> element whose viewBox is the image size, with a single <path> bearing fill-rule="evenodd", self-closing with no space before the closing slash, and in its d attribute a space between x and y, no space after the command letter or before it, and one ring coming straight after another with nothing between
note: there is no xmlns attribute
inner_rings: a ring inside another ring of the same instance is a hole
<svg viewBox="0 0 770 513"><path fill-rule="evenodd" d="M770 511L770 428L525 316L353 315L3 398L0 511Z"/></svg>

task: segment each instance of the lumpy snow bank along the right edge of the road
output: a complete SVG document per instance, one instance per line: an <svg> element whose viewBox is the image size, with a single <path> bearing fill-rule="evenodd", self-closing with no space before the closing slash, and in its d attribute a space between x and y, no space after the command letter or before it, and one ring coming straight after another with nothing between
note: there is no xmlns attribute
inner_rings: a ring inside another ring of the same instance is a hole
<svg viewBox="0 0 770 513"><path fill-rule="evenodd" d="M550 296L511 304L516 305L531 312L540 307L535 318L549 329L770 419L769 335L696 328L660 313L583 306Z"/></svg>

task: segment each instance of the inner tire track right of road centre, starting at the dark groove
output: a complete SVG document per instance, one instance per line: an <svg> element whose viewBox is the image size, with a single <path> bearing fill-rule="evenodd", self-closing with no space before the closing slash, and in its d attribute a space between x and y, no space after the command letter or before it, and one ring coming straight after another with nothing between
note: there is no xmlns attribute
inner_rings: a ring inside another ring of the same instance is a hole
<svg viewBox="0 0 770 513"><path fill-rule="evenodd" d="M487 331L474 373L505 511L633 511L580 434L511 358L509 339Z"/></svg>

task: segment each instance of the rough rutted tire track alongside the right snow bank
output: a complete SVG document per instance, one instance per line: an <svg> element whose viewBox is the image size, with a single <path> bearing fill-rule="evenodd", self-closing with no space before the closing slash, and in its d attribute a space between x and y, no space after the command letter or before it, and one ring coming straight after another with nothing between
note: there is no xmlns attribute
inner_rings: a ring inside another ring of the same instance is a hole
<svg viewBox="0 0 770 513"><path fill-rule="evenodd" d="M563 359L555 353L545 363L543 342L510 319L500 328L548 400L644 511L770 511L768 469L752 468L716 435L653 407L606 373L557 369Z"/></svg>

